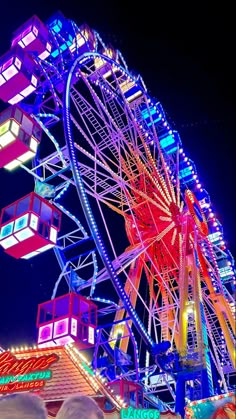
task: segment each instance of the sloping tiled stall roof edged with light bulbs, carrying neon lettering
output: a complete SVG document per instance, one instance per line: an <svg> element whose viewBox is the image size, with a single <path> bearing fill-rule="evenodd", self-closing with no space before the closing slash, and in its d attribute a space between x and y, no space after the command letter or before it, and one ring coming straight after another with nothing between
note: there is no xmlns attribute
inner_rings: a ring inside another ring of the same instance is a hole
<svg viewBox="0 0 236 419"><path fill-rule="evenodd" d="M47 405L58 402L57 409L59 402L78 393L106 398L118 411L125 406L75 345L2 351L0 397L18 391L35 391Z"/></svg>

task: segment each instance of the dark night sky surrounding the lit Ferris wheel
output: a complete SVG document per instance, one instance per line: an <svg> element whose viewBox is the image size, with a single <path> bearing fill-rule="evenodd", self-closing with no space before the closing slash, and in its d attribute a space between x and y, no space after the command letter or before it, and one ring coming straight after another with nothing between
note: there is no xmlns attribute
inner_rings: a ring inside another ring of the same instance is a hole
<svg viewBox="0 0 236 419"><path fill-rule="evenodd" d="M96 29L123 53L129 69L142 75L195 162L235 256L233 6L226 1L143 1L139 6L129 0L4 1L0 54L9 48L12 32L33 14L46 20L57 10ZM32 190L26 173L1 169L0 182L0 207ZM48 255L15 261L0 249L0 345L35 341L37 303L50 299L58 276L50 256L50 263Z"/></svg>

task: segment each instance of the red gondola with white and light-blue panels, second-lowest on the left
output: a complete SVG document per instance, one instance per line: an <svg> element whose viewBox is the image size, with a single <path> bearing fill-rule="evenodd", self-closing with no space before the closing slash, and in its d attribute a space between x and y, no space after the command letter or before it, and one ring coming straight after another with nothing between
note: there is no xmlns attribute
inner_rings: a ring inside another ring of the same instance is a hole
<svg viewBox="0 0 236 419"><path fill-rule="evenodd" d="M0 245L15 259L29 259L53 248L61 212L35 192L1 211Z"/></svg>

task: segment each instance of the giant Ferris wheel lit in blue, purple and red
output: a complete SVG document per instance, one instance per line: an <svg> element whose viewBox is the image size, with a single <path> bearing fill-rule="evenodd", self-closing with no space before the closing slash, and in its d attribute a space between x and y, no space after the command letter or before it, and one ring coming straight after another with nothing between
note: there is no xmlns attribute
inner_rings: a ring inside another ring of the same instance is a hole
<svg viewBox="0 0 236 419"><path fill-rule="evenodd" d="M20 165L62 214L50 245L61 268L52 299L65 279L98 304L94 365L102 369L106 350L132 356L119 373L142 381L147 394L170 392L178 411L186 383L191 400L227 392L234 260L162 105L120 51L61 13L22 25L9 54L0 61L0 97L13 119L18 107L28 115L42 140L32 166L17 156L2 166ZM19 74L21 91L6 89ZM3 229L0 244L11 234Z"/></svg>

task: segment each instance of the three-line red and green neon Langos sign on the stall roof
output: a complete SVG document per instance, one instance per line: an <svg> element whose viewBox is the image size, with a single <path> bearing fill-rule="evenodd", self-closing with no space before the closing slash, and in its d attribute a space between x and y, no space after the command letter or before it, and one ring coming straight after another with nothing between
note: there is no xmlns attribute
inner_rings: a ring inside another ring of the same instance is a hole
<svg viewBox="0 0 236 419"><path fill-rule="evenodd" d="M39 389L52 378L49 367L56 354L18 359L11 352L0 353L0 393Z"/></svg>

